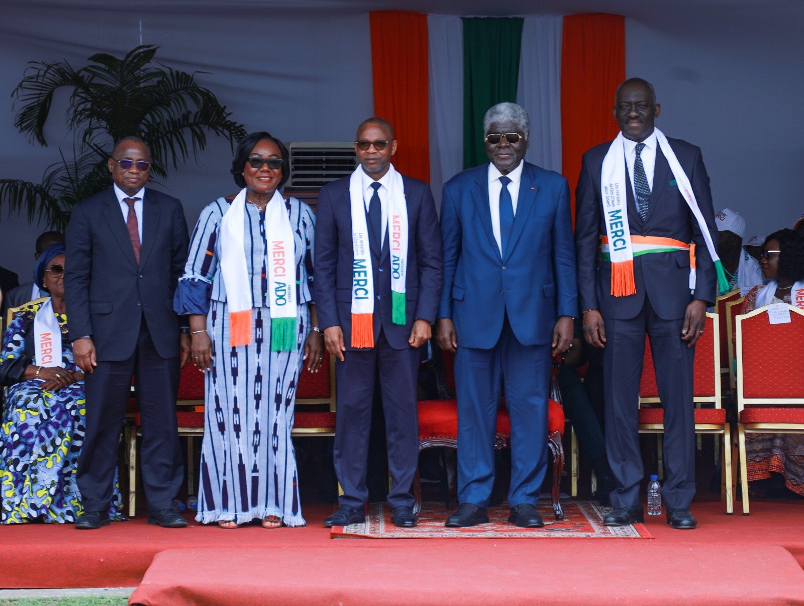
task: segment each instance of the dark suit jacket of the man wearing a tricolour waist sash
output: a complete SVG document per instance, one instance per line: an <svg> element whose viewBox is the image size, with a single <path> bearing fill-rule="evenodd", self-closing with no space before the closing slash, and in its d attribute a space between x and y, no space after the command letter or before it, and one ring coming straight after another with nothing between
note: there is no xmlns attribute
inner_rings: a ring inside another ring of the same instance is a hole
<svg viewBox="0 0 804 606"><path fill-rule="evenodd" d="M701 150L681 139L668 138L667 141L690 179L712 241L717 244L712 192ZM695 293L689 289L690 256L686 250L679 250L634 257L636 294L626 297L611 295L611 262L597 262L600 237L605 235L601 212L601 170L609 146L611 142L601 143L584 154L576 189L575 237L581 309L599 309L607 318L630 319L642 310L647 297L660 318L679 319L684 317L687 305L693 299L704 300L707 307L711 307L716 298L715 265L698 222L679 192L661 149L656 150L650 206L644 222L634 202L633 188L630 185L626 188L628 225L632 236L671 237L683 242L695 242ZM626 181L630 184L628 175Z"/></svg>

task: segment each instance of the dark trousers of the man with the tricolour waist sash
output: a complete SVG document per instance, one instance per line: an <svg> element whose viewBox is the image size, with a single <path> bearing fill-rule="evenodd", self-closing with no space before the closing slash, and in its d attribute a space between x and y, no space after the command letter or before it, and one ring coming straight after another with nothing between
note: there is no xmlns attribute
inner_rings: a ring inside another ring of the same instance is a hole
<svg viewBox="0 0 804 606"><path fill-rule="evenodd" d="M639 505L644 477L639 448L639 380L650 337L658 395L664 408L664 468L662 498L667 509L687 509L695 495L695 406L692 364L695 348L681 340L683 319L662 319L650 300L631 319L604 318L603 350L605 443L609 466L617 480L611 493L614 507Z"/></svg>

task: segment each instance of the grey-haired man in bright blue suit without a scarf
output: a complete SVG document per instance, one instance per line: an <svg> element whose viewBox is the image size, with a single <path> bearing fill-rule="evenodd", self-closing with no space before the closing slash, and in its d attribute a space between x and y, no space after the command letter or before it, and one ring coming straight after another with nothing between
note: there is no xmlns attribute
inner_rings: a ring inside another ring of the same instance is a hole
<svg viewBox="0 0 804 606"><path fill-rule="evenodd" d="M444 289L436 332L456 352L457 511L446 526L488 521L500 398L511 415L509 522L544 526L551 352L568 349L578 313L567 179L524 161L527 112L483 118L490 163L450 179L441 201Z"/></svg>

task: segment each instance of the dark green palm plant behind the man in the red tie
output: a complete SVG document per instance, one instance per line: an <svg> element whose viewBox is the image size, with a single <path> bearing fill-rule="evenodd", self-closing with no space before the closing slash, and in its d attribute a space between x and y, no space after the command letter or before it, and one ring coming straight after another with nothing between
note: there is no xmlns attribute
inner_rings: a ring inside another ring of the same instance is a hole
<svg viewBox="0 0 804 606"><path fill-rule="evenodd" d="M35 61L14 89L14 126L32 143L47 146L44 126L54 94L69 93L67 126L74 134L71 155L47 167L41 183L0 179L0 208L27 213L63 229L72 206L109 188L106 168L111 142L137 135L151 150L154 176L165 177L189 157L198 159L207 134L228 138L230 146L246 134L195 73L153 64L157 46L138 46L125 57L98 53L82 68L67 61Z"/></svg>

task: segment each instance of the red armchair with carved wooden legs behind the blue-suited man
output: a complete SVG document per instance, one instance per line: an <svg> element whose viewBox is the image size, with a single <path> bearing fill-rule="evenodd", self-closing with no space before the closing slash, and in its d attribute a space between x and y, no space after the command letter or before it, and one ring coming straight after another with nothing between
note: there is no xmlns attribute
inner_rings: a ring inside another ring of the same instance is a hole
<svg viewBox="0 0 804 606"><path fill-rule="evenodd" d="M419 451L426 448L446 447L457 449L457 400L454 398L453 356L441 352L433 344L433 357L437 360L437 383L440 395L438 400L420 400L419 409ZM439 361L439 357L441 360ZM447 372L449 371L449 372ZM449 389L453 385L453 389ZM561 473L564 471L564 447L561 437L564 435L564 409L555 400L549 401L548 410L548 446L553 459L552 506L556 520L564 519L564 510L560 503ZM505 408L505 398L500 402L497 411L497 429L494 432L494 448L502 450L511 446L511 418ZM421 484L416 472L414 482L416 497L415 511L421 509Z"/></svg>

